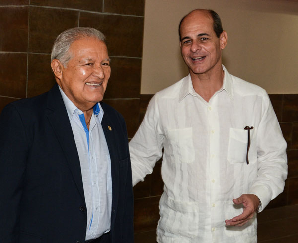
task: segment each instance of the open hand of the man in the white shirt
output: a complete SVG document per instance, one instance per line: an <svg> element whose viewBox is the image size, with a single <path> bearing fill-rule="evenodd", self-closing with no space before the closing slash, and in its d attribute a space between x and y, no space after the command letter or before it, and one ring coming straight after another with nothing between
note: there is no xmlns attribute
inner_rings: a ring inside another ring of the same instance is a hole
<svg viewBox="0 0 298 243"><path fill-rule="evenodd" d="M252 217L259 206L259 198L254 194L242 194L240 197L233 199L234 204L243 204L243 213L235 216L231 220L226 220L228 226L242 226L246 224Z"/></svg>

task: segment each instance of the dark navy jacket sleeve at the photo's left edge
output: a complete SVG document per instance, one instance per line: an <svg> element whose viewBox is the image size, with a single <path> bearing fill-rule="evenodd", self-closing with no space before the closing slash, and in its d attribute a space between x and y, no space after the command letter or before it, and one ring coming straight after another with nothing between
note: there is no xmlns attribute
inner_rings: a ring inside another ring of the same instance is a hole
<svg viewBox="0 0 298 243"><path fill-rule="evenodd" d="M24 186L28 140L25 126L13 104L0 115L0 242L16 243Z"/></svg>

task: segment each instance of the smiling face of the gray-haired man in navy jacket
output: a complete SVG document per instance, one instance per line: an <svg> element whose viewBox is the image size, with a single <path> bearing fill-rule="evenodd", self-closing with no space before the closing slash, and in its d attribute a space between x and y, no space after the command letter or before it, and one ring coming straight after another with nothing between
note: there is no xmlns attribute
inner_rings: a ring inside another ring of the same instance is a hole
<svg viewBox="0 0 298 243"><path fill-rule="evenodd" d="M107 46L95 38L84 38L74 41L69 51L71 59L57 82L77 108L88 110L103 99L110 78Z"/></svg>

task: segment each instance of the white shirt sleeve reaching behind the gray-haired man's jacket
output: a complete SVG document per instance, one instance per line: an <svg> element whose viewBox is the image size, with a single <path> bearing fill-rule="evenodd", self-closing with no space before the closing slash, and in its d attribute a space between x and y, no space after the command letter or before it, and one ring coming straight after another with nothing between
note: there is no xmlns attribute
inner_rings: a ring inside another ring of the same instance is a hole
<svg viewBox="0 0 298 243"><path fill-rule="evenodd" d="M144 181L162 156L164 135L156 99L155 95L149 102L143 122L129 143L133 185Z"/></svg>

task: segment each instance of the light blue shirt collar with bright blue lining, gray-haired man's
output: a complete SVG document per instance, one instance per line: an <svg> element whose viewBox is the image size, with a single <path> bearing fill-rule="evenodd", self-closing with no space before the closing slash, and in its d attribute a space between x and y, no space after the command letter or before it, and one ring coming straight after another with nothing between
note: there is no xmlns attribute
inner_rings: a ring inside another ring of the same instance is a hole
<svg viewBox="0 0 298 243"><path fill-rule="evenodd" d="M60 93L61 93L61 96L62 96L62 99L63 99L63 102L64 102L64 105L65 105L65 108L66 108L66 111L67 111L67 114L68 114L68 117L70 119L70 121L72 120L73 118L73 115L74 113L77 113L77 114L82 114L83 112L81 110L79 110L75 105L74 103L67 97L67 95L63 92L63 90L59 87L59 90L60 90ZM93 107L93 114L98 118L99 118L99 122L102 121L102 118L103 118L103 110L102 110L102 107L100 105L99 102L97 102L95 104L95 106Z"/></svg>

